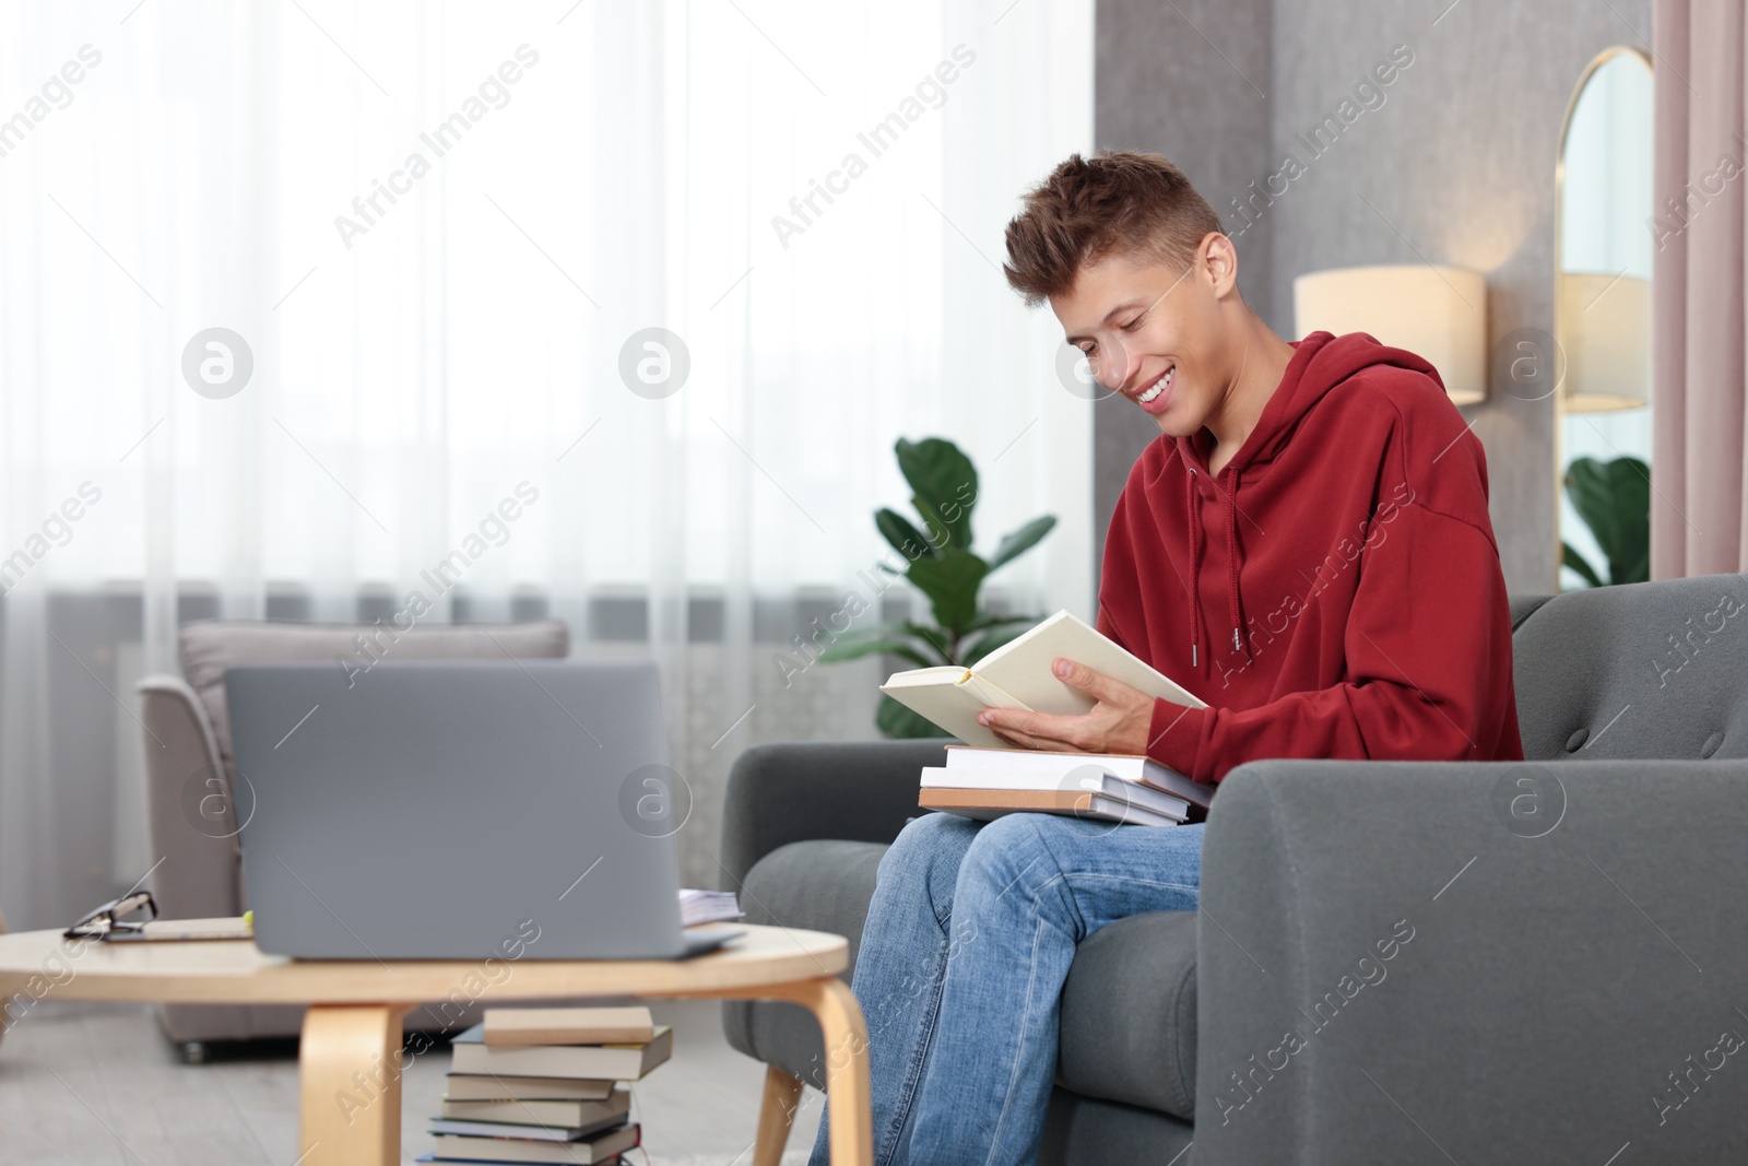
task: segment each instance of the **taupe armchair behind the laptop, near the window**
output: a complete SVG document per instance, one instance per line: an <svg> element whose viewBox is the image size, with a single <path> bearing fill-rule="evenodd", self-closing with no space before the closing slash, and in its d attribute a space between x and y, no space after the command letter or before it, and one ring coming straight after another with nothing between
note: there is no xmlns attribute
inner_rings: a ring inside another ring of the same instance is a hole
<svg viewBox="0 0 1748 1166"><path fill-rule="evenodd" d="M362 640L360 640L362 638ZM369 645L369 652L365 652ZM180 631L182 677L140 682L145 725L150 888L159 916L199 920L248 907L243 851L232 813L236 759L225 715L224 673L236 664L565 657L561 621L528 624L414 626L392 635L379 626L203 621ZM164 1031L187 1061L215 1040L295 1037L304 1009L290 1005L191 1005L157 1009ZM428 1002L407 1014L407 1030L460 1031L479 1019L470 1000Z"/></svg>

